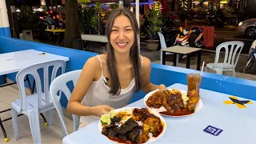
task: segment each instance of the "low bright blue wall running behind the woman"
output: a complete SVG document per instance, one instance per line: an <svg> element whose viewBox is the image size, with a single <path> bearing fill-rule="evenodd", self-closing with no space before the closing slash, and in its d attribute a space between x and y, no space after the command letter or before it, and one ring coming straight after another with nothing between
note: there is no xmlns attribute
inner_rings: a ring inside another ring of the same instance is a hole
<svg viewBox="0 0 256 144"><path fill-rule="evenodd" d="M52 54L58 54L70 58L70 62L66 63L66 71L79 70L86 60L96 55L95 53L72 50L59 46L51 46L37 42L29 42L14 38L0 37L0 54L18 50L42 50ZM189 70L174 66L162 66L152 63L151 82L155 84L165 84L170 86L174 83L186 84L186 74L198 72L197 70ZM7 74L7 78L15 80L15 74ZM241 78L232 78L219 74L204 73L202 78L202 88L214 90L242 98L250 98L256 100L256 82ZM131 102L143 98L145 93L142 91L134 94ZM61 100L62 106L66 107L66 99Z"/></svg>

